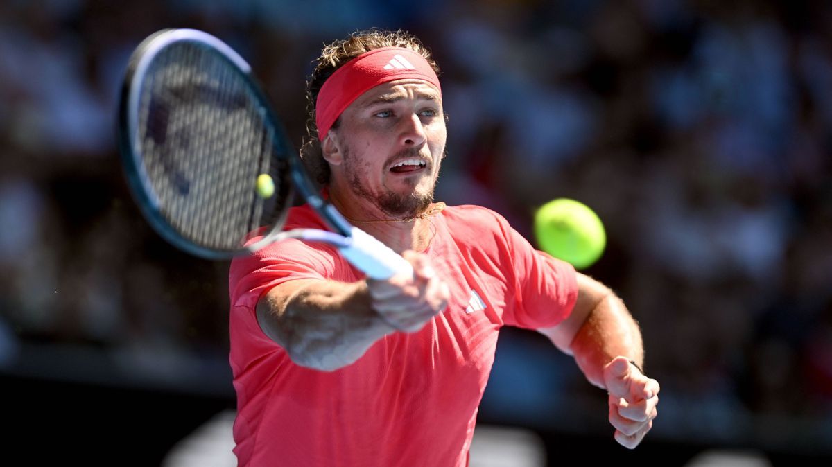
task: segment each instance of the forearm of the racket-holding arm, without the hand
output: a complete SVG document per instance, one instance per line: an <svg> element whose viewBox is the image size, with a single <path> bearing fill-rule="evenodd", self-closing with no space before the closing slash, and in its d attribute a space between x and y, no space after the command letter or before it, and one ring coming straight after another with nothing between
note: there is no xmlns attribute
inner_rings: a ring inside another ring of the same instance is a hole
<svg viewBox="0 0 832 467"><path fill-rule="evenodd" d="M370 307L364 282L285 283L261 298L257 317L292 361L323 371L348 366L393 331Z"/></svg>

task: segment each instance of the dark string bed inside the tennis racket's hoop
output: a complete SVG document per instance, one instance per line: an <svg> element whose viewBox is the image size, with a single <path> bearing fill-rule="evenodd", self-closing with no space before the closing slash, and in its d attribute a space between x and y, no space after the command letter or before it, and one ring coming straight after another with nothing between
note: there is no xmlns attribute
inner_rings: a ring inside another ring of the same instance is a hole
<svg viewBox="0 0 832 467"><path fill-rule="evenodd" d="M210 49L183 42L161 51L140 101L138 143L162 214L189 241L235 250L284 206L282 165L248 81ZM273 175L277 196L255 180Z"/></svg>

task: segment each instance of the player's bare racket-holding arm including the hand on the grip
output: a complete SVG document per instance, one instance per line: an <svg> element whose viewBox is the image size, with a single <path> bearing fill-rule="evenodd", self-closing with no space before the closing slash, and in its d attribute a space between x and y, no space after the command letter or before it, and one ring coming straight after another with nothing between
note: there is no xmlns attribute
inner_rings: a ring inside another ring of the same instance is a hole
<svg viewBox="0 0 832 467"><path fill-rule="evenodd" d="M416 332L448 302L448 287L427 258L406 252L414 276L339 283L299 279L282 283L257 303L266 336L292 361L333 371L358 360L390 332Z"/></svg>

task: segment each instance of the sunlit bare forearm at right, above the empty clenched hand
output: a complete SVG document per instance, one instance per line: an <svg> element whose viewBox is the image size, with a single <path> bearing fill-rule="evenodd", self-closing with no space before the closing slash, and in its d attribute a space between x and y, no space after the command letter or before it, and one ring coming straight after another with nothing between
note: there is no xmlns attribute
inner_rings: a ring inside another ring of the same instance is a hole
<svg viewBox="0 0 832 467"><path fill-rule="evenodd" d="M603 370L616 356L626 356L643 366L644 347L638 324L624 303L609 292L589 312L572 339L570 350L587 380L605 387Z"/></svg>

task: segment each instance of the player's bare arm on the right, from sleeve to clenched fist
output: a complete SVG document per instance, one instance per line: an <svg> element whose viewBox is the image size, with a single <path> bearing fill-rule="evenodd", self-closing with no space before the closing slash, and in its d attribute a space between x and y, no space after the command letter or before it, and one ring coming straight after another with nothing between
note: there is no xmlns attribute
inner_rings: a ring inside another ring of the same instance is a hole
<svg viewBox="0 0 832 467"><path fill-rule="evenodd" d="M572 314L556 327L539 330L562 351L575 356L593 385L609 394L610 423L619 444L635 448L656 417L659 384L642 367L644 348L636 321L622 300L596 280L578 273Z"/></svg>

